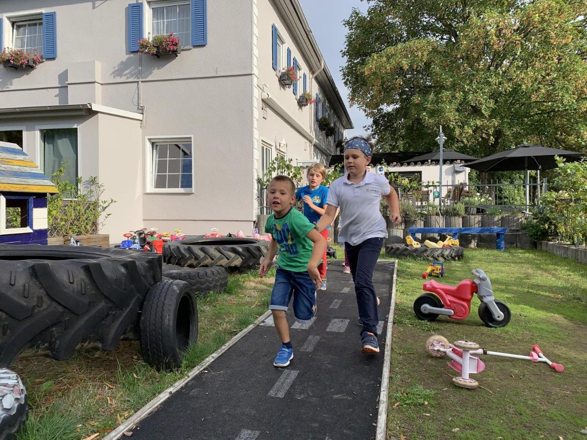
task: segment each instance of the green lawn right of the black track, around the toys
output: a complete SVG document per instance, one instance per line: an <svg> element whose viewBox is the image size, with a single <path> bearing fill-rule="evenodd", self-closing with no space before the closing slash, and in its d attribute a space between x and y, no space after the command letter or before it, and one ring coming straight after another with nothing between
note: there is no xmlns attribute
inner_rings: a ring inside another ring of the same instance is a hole
<svg viewBox="0 0 587 440"><path fill-rule="evenodd" d="M423 291L428 262L400 260L392 343L387 431L396 438L587 438L587 269L541 251L465 249L446 263L440 280L457 285L482 268L495 297L510 306L510 324L484 327L473 299L464 321L420 321L412 304ZM431 334L468 339L492 351L527 355L539 344L546 357L565 365L556 373L544 363L480 356L482 388L451 383L458 375L446 358L424 352ZM425 404L426 402L426 404Z"/></svg>

